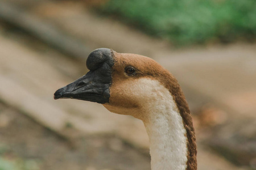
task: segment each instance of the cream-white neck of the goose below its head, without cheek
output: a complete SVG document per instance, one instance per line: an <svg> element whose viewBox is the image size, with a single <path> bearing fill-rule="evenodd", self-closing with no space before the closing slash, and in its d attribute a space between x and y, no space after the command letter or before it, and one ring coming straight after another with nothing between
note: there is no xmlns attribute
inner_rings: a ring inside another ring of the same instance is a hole
<svg viewBox="0 0 256 170"><path fill-rule="evenodd" d="M150 139L151 169L185 169L187 135L173 97L167 90L149 105L143 122Z"/></svg>

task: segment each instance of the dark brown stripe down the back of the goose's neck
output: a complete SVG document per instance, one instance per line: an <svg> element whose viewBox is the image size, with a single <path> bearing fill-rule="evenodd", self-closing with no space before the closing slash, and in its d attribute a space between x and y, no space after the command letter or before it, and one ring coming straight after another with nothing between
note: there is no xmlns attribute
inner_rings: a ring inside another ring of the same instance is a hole
<svg viewBox="0 0 256 170"><path fill-rule="evenodd" d="M163 72L162 72L163 73ZM197 161L196 161L196 137L195 137L195 129L193 128L193 122L191 113L189 111L189 107L187 101L185 100L185 96L181 91L179 84L175 77L170 74L167 70L164 71L162 76L158 76L160 82L171 92L172 97L174 97L174 101L179 109L180 116L183 118L183 125L187 131L187 168L188 170L197 169ZM167 75L168 74L168 75ZM171 77L170 77L171 76ZM166 79L166 77L170 77L170 79Z"/></svg>

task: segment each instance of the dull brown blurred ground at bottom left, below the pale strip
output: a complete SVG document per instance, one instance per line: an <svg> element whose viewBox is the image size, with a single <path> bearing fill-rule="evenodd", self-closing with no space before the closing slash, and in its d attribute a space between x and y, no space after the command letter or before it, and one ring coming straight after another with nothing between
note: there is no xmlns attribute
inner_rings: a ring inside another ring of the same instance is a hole
<svg viewBox="0 0 256 170"><path fill-rule="evenodd" d="M10 162L22 158L24 169L150 169L149 155L114 135L92 135L74 145L2 103L0 109L7 121L0 128L0 155Z"/></svg>

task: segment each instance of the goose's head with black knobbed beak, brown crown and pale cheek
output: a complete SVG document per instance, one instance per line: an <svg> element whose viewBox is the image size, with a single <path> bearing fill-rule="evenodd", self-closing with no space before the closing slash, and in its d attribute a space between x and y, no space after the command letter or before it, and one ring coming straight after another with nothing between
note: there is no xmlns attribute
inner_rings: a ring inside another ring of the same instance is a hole
<svg viewBox="0 0 256 170"><path fill-rule="evenodd" d="M143 110L161 95L158 85L176 83L173 76L153 59L107 48L90 53L86 67L90 71L57 90L54 99L93 101L103 104L110 112L143 119L146 116Z"/></svg>

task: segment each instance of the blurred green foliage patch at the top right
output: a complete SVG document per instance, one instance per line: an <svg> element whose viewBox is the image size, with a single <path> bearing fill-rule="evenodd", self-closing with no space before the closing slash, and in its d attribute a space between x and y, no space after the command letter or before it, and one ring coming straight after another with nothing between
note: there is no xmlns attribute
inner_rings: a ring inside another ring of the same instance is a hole
<svg viewBox="0 0 256 170"><path fill-rule="evenodd" d="M101 10L179 45L256 35L255 0L109 0Z"/></svg>

